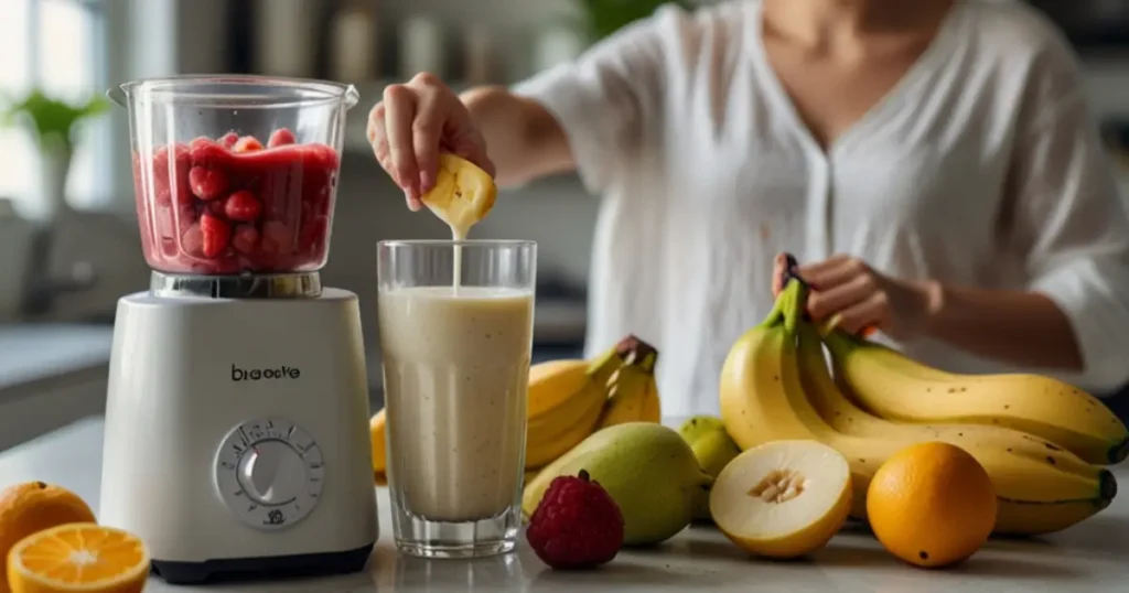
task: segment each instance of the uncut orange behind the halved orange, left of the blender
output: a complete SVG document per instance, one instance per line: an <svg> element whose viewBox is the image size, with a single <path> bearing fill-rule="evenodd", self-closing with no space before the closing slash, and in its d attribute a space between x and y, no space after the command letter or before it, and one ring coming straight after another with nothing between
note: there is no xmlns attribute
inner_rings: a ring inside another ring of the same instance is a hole
<svg viewBox="0 0 1129 593"><path fill-rule="evenodd" d="M24 482L0 491L0 559L17 541L64 523L94 523L94 512L75 492L44 482ZM0 593L8 582L0 574Z"/></svg>

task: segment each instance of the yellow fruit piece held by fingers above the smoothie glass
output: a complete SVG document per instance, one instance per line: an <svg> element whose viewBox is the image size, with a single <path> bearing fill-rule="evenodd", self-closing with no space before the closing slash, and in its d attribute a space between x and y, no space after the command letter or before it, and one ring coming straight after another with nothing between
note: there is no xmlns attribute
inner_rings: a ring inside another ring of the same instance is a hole
<svg viewBox="0 0 1129 593"><path fill-rule="evenodd" d="M421 195L420 201L452 230L465 234L485 218L497 197L498 188L489 173L465 158L440 152L435 188Z"/></svg>

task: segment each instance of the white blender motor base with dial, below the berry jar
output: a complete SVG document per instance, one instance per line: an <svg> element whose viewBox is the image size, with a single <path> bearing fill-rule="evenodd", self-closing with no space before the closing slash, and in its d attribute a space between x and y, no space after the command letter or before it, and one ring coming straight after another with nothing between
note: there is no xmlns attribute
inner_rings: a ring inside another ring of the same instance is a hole
<svg viewBox="0 0 1129 593"><path fill-rule="evenodd" d="M177 295L119 302L98 522L169 583L362 569L379 530L357 295Z"/></svg>

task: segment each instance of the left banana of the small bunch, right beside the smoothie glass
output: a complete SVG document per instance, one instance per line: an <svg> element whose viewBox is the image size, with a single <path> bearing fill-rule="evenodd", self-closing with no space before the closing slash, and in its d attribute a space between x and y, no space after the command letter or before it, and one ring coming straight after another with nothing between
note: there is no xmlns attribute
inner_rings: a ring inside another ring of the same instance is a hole
<svg viewBox="0 0 1129 593"><path fill-rule="evenodd" d="M537 372L530 385L526 468L549 464L596 429L607 402L609 381L622 364L612 348L584 366L557 364Z"/></svg>

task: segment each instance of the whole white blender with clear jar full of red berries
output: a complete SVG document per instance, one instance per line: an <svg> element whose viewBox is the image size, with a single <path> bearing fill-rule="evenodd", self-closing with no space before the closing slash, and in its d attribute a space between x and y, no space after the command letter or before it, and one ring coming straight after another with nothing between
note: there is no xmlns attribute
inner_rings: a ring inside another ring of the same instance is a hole
<svg viewBox="0 0 1129 593"><path fill-rule="evenodd" d="M99 521L140 535L170 583L362 569L360 311L317 273L356 89L217 76L110 95L154 272L117 304Z"/></svg>

